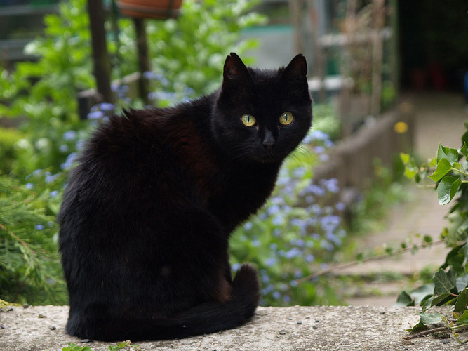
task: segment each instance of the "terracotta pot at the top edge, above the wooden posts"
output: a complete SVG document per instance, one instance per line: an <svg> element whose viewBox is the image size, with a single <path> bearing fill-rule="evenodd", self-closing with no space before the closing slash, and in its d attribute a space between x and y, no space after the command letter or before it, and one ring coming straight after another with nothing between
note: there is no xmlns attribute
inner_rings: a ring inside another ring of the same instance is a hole
<svg viewBox="0 0 468 351"><path fill-rule="evenodd" d="M136 18L176 18L182 0L119 0L117 6L123 15Z"/></svg>

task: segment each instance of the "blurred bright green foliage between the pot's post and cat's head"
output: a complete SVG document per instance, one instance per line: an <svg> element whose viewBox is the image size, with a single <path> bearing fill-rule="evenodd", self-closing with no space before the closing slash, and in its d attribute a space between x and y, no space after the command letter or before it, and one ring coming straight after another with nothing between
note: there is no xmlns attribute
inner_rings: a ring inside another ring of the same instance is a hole
<svg viewBox="0 0 468 351"><path fill-rule="evenodd" d="M154 72L168 79L168 90L192 96L212 93L221 82L220 67L231 51L241 55L256 46L248 39L239 42L240 31L265 22L249 12L258 1L186 0L175 20L148 20L147 36ZM123 40L126 42L126 40ZM244 58L244 62L251 63Z"/></svg>

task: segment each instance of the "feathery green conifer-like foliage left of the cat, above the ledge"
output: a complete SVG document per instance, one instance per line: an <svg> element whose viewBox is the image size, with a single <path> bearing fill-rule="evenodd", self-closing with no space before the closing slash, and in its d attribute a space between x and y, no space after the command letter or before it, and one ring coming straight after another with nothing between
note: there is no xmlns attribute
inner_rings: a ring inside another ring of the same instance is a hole
<svg viewBox="0 0 468 351"><path fill-rule="evenodd" d="M14 303L65 303L54 223L54 189L63 180L34 178L34 185L21 185L0 175L0 296Z"/></svg>

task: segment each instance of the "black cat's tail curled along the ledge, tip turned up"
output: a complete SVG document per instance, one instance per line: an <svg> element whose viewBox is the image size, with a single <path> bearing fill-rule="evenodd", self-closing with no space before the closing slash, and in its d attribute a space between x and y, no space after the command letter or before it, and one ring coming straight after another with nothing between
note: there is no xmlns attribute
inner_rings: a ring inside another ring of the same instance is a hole
<svg viewBox="0 0 468 351"><path fill-rule="evenodd" d="M257 270L243 264L232 282L232 296L227 302L203 303L174 316L128 320L110 319L101 321L97 328L75 329L69 323L67 333L92 340L163 340L186 338L204 333L232 329L253 317L260 300L260 284ZM70 322L70 321L69 321ZM97 321L95 321L97 322Z"/></svg>

